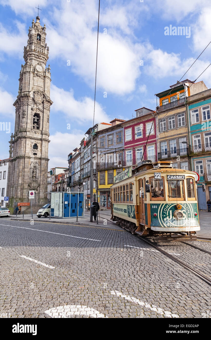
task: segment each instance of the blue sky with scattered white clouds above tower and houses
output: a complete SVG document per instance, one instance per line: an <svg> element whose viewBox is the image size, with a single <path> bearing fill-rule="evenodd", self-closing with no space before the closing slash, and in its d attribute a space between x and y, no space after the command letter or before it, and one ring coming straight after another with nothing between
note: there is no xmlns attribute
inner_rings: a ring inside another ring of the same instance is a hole
<svg viewBox="0 0 211 340"><path fill-rule="evenodd" d="M54 102L49 168L68 166L67 155L93 125L98 5L98 0L39 0ZM0 122L7 126L3 131L1 125L1 159L9 157L23 47L37 6L34 0L0 0ZM180 80L211 41L210 17L209 0L101 0L94 124L131 119L143 106L155 109L155 94ZM171 27L181 26L185 35L170 34ZM194 81L210 64L210 52L211 44L182 80ZM211 67L201 80L211 87Z"/></svg>

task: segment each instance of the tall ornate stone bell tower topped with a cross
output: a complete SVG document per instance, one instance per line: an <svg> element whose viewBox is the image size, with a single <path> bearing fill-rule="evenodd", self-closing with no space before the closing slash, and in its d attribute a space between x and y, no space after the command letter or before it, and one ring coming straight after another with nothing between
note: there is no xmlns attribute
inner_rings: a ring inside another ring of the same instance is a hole
<svg viewBox="0 0 211 340"><path fill-rule="evenodd" d="M12 210L17 202L29 202L29 190L35 190L34 213L47 203L49 143L50 65L46 68L49 47L45 43L45 24L40 17L28 30L24 46L25 64L21 65L15 106L15 131L9 141L7 196ZM26 211L26 207L24 208Z"/></svg>

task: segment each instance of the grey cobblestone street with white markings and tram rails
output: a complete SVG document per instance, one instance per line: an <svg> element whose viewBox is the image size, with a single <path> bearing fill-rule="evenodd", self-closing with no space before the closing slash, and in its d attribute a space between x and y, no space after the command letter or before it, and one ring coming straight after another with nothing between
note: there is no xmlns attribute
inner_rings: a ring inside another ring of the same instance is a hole
<svg viewBox="0 0 211 340"><path fill-rule="evenodd" d="M123 229L0 220L1 313L12 318L202 318L210 286ZM211 242L196 241L211 251ZM162 245L159 245L162 246ZM210 278L210 257L165 245Z"/></svg>

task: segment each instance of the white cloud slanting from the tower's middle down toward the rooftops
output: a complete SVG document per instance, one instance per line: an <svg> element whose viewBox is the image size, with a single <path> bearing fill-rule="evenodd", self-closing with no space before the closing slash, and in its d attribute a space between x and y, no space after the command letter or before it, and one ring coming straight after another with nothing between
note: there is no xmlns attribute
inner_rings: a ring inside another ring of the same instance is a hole
<svg viewBox="0 0 211 340"><path fill-rule="evenodd" d="M51 106L51 112L62 112L70 124L74 123L93 123L94 101L89 97L83 97L78 100L74 98L73 90L65 91L51 84L50 97L54 102ZM111 119L104 112L102 106L95 102L95 120L94 123L109 122ZM72 124L71 124L72 125ZM72 126L71 126L72 128Z"/></svg>

